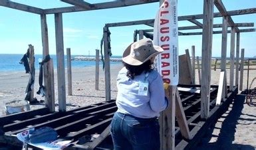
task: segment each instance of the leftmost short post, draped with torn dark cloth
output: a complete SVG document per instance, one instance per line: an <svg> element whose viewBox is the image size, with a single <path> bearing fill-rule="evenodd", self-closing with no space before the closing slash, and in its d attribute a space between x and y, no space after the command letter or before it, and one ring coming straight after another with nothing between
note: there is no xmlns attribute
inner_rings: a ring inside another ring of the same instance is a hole
<svg viewBox="0 0 256 150"><path fill-rule="evenodd" d="M35 53L34 53L34 46L29 44L29 67L31 71L31 78L33 78L35 82ZM31 94L30 94L30 101L34 98L34 86L31 86Z"/></svg>

